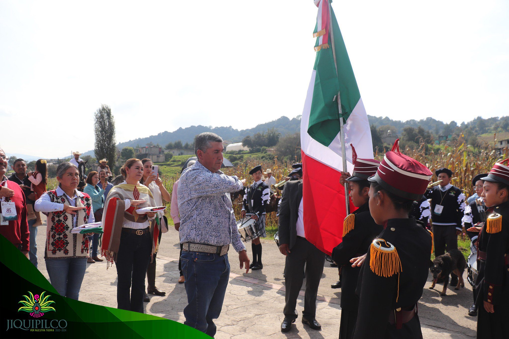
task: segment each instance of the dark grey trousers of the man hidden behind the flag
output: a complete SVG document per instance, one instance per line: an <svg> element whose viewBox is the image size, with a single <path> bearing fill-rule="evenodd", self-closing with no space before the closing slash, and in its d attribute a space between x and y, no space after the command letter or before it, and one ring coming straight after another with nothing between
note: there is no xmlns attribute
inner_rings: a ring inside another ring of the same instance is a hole
<svg viewBox="0 0 509 339"><path fill-rule="evenodd" d="M295 245L290 250L285 262L285 318L297 319L295 306L302 287L302 271L306 266L306 288L304 292L304 312L302 317L314 320L316 316L316 300L318 286L322 278L325 253L320 251L304 238L297 237Z"/></svg>

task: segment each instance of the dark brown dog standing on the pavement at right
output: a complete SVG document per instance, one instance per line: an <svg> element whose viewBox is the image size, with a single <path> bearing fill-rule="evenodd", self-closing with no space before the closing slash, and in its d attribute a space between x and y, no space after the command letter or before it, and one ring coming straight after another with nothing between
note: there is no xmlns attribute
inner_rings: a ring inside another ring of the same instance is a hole
<svg viewBox="0 0 509 339"><path fill-rule="evenodd" d="M434 289L437 280L441 278L444 280L444 288L440 295L444 296L447 291L449 274L451 272L458 275L458 285L456 285L455 290L459 290L460 286L465 287L463 272L466 266L467 262L460 250L450 250L446 254L436 257L435 260L430 263L430 271L431 274L433 274L433 284L430 286L430 289Z"/></svg>

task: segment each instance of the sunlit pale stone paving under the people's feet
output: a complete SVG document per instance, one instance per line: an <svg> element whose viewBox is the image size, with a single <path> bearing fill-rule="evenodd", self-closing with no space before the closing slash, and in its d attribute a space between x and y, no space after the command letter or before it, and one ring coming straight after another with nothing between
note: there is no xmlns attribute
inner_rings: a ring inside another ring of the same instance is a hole
<svg viewBox="0 0 509 339"><path fill-rule="evenodd" d="M46 238L46 224L39 227L39 270L48 278L44 264L43 244ZM337 268L325 264L324 274L318 291L317 320L321 331L309 329L300 321L303 310L303 290L297 302L299 318L288 333L281 333L279 326L284 316L285 282L282 278L285 259L274 241L263 241L264 268L245 273L239 269L238 255L230 250L230 284L224 298L221 316L216 320L216 337L223 338L337 338L341 307L341 290L330 288L337 280ZM248 246L248 254L250 246ZM145 303L145 312L156 316L183 322L183 309L187 297L183 284L178 284L178 233L170 230L163 234L157 258L156 285L166 291L165 296L151 296ZM466 272L465 272L466 282ZM305 283L305 281L304 281ZM447 296L430 290L429 281L419 302L419 318L425 338L470 338L475 337L476 318L467 315L471 305L470 286L455 291L449 288ZM468 285L468 283L467 283ZM87 272L81 285L79 300L98 305L116 307L117 272L115 267L106 270L106 263L87 264Z"/></svg>

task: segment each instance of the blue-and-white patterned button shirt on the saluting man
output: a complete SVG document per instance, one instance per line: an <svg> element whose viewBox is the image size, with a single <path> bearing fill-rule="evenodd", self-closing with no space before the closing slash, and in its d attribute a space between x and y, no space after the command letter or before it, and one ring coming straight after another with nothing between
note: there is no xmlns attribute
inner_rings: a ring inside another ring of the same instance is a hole
<svg viewBox="0 0 509 339"><path fill-rule="evenodd" d="M177 190L180 242L216 246L231 243L235 251L245 250L229 194L242 188L236 176L221 171L212 173L199 161L186 168Z"/></svg>

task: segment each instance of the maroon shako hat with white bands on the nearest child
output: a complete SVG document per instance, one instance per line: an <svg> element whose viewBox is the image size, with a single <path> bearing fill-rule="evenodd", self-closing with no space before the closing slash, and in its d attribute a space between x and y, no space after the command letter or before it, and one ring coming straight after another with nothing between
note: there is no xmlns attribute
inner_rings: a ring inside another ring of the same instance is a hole
<svg viewBox="0 0 509 339"><path fill-rule="evenodd" d="M408 200L420 200L433 173L417 160L400 152L400 139L385 153L377 173L369 178L383 189Z"/></svg>

